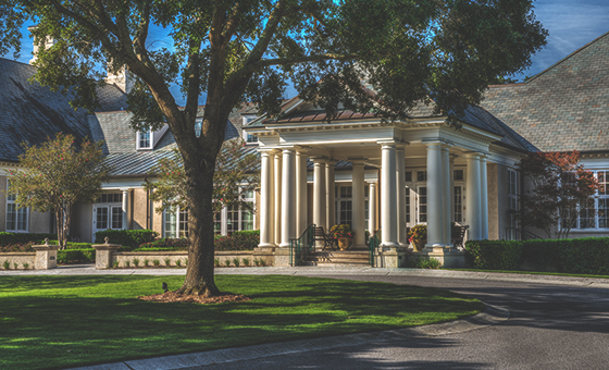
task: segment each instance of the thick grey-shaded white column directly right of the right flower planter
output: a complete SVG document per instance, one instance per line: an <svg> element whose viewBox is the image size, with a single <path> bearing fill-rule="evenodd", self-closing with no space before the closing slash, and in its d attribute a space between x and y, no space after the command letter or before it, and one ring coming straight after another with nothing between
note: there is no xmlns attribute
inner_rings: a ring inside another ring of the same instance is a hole
<svg viewBox="0 0 609 370"><path fill-rule="evenodd" d="M425 247L444 245L443 226L443 173L442 145L439 141L427 143L427 244Z"/></svg>

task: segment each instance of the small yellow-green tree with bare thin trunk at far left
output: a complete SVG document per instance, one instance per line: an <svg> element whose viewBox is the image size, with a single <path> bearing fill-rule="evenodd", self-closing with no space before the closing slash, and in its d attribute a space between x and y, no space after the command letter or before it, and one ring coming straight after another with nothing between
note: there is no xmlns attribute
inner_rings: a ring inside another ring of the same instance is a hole
<svg viewBox="0 0 609 370"><path fill-rule="evenodd" d="M77 147L73 136L59 133L38 147L24 143L21 169L8 171L5 194L14 196L20 208L52 210L62 248L70 233L72 206L76 201L94 202L110 173L101 145L84 140Z"/></svg>

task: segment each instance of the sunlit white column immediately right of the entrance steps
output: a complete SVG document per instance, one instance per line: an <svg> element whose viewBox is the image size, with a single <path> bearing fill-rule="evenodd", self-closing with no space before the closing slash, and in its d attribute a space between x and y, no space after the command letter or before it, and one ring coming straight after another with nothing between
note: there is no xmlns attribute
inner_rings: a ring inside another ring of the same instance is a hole
<svg viewBox="0 0 609 370"><path fill-rule="evenodd" d="M396 141L382 141L381 147L381 238L386 247L398 247Z"/></svg>

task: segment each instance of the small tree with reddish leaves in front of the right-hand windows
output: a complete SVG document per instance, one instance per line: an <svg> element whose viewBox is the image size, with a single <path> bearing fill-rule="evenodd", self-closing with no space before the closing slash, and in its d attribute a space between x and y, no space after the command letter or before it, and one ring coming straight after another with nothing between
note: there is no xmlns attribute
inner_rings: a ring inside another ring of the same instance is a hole
<svg viewBox="0 0 609 370"><path fill-rule="evenodd" d="M543 230L548 238L552 229L559 238L568 237L579 208L586 208L598 187L594 174L580 164L580 152L530 153L522 161L522 172L533 188L522 196L521 221Z"/></svg>

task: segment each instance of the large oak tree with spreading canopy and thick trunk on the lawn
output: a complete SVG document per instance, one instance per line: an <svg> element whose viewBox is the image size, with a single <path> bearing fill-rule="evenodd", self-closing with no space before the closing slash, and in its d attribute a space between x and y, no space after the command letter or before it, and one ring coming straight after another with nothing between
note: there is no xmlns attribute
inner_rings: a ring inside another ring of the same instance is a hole
<svg viewBox="0 0 609 370"><path fill-rule="evenodd" d="M89 109L108 62L138 77L133 127L166 122L184 157L191 263L179 292L214 295L212 180L233 108L249 101L276 114L291 78L331 115L344 104L390 121L433 99L458 124L489 81L522 71L545 44L532 9L531 0L4 0L0 51L18 41L25 18L36 22L39 39L57 42L38 55L35 79ZM171 48L150 47L154 26L170 30Z"/></svg>

